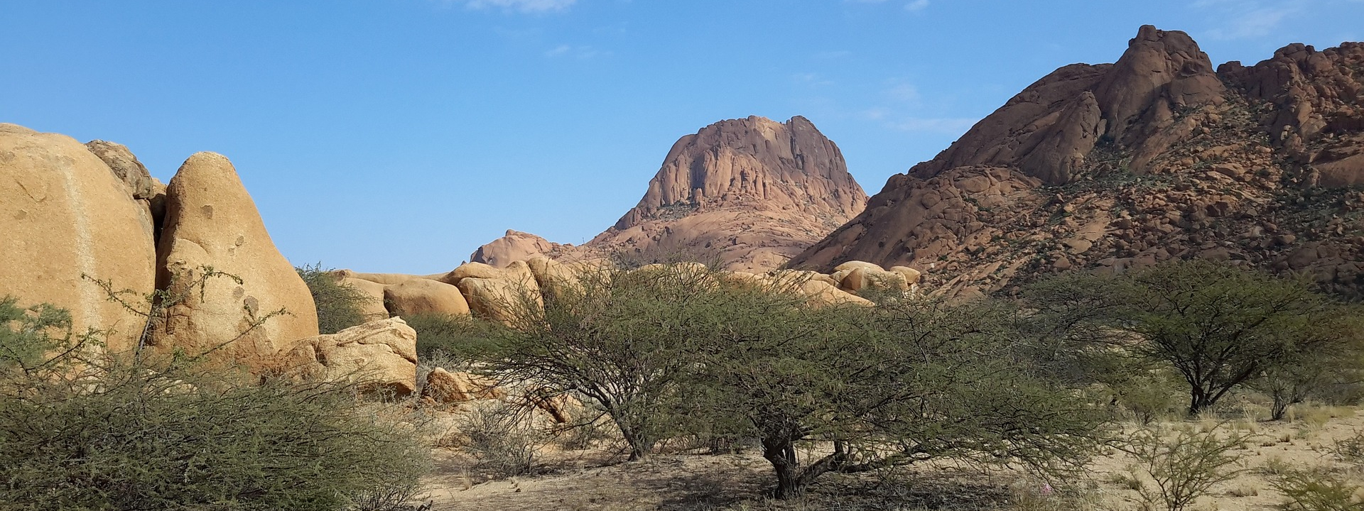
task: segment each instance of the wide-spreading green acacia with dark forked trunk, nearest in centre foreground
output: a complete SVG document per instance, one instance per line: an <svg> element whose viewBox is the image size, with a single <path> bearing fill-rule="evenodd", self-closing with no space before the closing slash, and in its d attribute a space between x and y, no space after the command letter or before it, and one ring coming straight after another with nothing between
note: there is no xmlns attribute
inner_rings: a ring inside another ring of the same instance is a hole
<svg viewBox="0 0 1364 511"><path fill-rule="evenodd" d="M1057 469L1094 446L1101 421L1028 369L1007 311L907 301L810 308L782 289L722 289L689 345L685 417L757 437L773 495L827 473L933 458ZM802 459L801 444L832 448Z"/></svg>

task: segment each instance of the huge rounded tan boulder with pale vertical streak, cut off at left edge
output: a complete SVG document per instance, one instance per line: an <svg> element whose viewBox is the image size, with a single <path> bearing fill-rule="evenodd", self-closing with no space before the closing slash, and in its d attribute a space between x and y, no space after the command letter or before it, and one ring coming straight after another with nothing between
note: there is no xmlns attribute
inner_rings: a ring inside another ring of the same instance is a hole
<svg viewBox="0 0 1364 511"><path fill-rule="evenodd" d="M78 331L112 328L109 350L131 350L146 320L80 275L151 293L155 245L145 214L80 142L0 124L0 296L65 308Z"/></svg>

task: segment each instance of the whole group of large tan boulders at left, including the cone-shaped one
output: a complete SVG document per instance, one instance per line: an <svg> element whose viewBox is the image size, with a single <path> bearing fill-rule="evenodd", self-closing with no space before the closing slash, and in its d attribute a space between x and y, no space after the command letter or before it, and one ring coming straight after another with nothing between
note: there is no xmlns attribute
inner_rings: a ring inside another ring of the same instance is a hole
<svg viewBox="0 0 1364 511"><path fill-rule="evenodd" d="M104 332L109 356L415 387L402 320L318 335L311 292L222 155L191 155L164 185L121 144L0 124L0 297L67 309L76 331Z"/></svg>

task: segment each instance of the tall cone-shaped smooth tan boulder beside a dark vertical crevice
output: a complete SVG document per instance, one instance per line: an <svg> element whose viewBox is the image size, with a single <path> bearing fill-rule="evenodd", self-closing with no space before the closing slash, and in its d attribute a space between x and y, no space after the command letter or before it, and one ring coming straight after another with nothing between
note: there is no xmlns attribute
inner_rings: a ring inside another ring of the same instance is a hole
<svg viewBox="0 0 1364 511"><path fill-rule="evenodd" d="M274 356L293 341L318 335L312 294L293 266L280 255L228 158L196 153L180 166L166 189L157 281L184 301L169 308L153 341L160 350L216 353L248 365ZM205 266L240 278L209 278L203 293L190 289ZM250 324L274 311L288 313ZM240 338L239 338L240 337ZM236 339L236 341L233 341Z"/></svg>

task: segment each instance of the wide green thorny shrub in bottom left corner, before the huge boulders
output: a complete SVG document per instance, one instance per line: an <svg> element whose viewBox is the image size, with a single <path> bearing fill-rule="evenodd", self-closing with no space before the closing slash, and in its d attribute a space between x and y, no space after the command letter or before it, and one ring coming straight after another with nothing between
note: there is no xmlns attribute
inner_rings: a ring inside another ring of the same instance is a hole
<svg viewBox="0 0 1364 511"><path fill-rule="evenodd" d="M419 488L416 432L351 388L101 360L50 311L0 300L0 353L27 353L0 360L0 510L394 510Z"/></svg>

